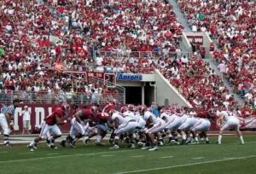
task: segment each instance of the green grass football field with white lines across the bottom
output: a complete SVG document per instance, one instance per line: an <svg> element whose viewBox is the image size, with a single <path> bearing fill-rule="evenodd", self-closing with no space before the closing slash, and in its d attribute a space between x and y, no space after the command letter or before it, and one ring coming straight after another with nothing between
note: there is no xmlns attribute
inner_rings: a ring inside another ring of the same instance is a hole
<svg viewBox="0 0 256 174"><path fill-rule="evenodd" d="M34 152L25 146L0 148L0 173L255 173L256 136L244 139L244 145L224 136L222 145L166 145L154 152L94 144L49 149L41 143Z"/></svg>

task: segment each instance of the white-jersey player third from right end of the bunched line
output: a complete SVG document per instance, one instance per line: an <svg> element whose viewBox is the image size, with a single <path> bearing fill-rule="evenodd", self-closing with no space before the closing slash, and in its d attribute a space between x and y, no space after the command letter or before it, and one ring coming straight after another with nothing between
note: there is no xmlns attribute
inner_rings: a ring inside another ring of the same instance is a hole
<svg viewBox="0 0 256 174"><path fill-rule="evenodd" d="M160 118L166 122L166 135L169 138L170 144L179 144L177 136L173 138L172 134L176 135L177 128L182 124L181 118L174 113L167 113L164 109L160 111Z"/></svg>

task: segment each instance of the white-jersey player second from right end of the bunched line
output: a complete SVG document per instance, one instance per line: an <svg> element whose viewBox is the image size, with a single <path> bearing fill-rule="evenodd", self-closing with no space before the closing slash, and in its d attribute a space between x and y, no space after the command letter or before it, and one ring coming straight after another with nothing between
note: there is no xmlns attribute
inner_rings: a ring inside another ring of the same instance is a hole
<svg viewBox="0 0 256 174"><path fill-rule="evenodd" d="M183 113L181 118L182 125L178 127L178 131L180 131L183 139L182 144L190 142L190 129L195 125L195 118L193 115L189 114L189 108L185 107L184 110L185 113Z"/></svg>

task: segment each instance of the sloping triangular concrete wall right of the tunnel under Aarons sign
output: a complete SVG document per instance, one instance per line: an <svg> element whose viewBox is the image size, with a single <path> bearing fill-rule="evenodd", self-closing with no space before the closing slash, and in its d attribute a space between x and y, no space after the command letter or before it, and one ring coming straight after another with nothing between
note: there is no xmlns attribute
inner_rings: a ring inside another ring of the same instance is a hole
<svg viewBox="0 0 256 174"><path fill-rule="evenodd" d="M156 84L157 103L165 105L168 100L169 104L177 103L179 106L192 107L190 103L181 96L170 82L162 76L159 70L154 70Z"/></svg>

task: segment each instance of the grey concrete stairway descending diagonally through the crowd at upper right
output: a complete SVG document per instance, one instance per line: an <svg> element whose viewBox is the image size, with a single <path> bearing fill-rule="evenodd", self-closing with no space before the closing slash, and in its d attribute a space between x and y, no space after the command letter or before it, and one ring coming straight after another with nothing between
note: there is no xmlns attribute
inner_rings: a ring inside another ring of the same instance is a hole
<svg viewBox="0 0 256 174"><path fill-rule="evenodd" d="M168 0L168 1L172 5L173 11L177 16L177 20L179 20L179 22L184 27L184 32L192 32L187 20L184 18L183 13L179 9L176 0ZM214 43L217 44L216 42L214 42ZM182 50L182 52L189 52L189 50L186 49L186 47L183 45L182 42L180 42L180 49ZM212 61L211 58L206 58L203 61L208 62L210 64L210 66L214 69L215 73L218 76L220 75L217 65ZM234 93L234 90L233 90L232 86L229 84L229 81L227 78L224 78L224 85L227 87L228 90L230 90L230 94L234 96L236 102L238 102L240 105L243 105L245 101L241 98L241 96L238 96L236 93Z"/></svg>

